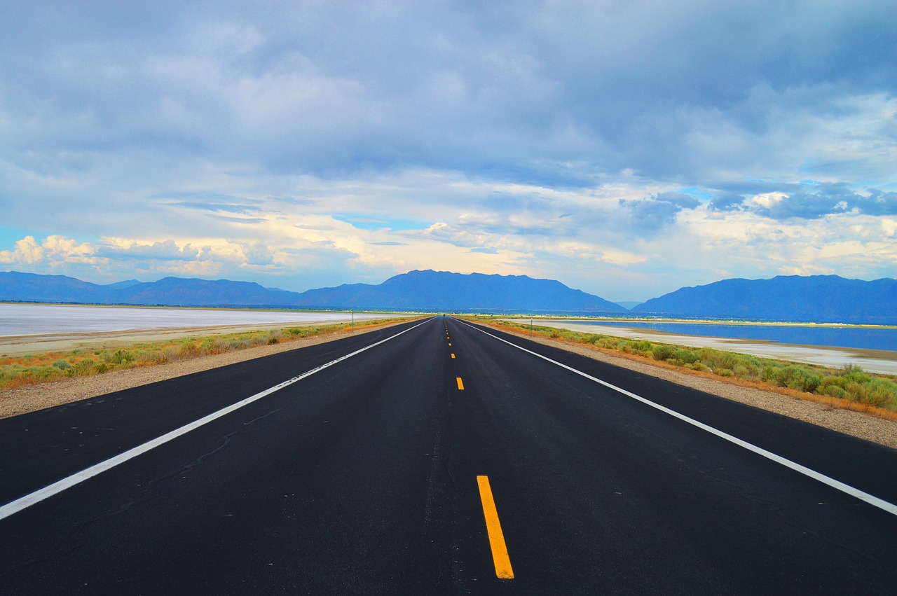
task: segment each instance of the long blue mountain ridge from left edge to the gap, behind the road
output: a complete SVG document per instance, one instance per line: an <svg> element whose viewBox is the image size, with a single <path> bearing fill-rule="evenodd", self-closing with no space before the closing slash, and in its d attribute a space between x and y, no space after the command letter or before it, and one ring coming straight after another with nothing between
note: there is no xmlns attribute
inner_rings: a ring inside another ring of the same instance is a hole
<svg viewBox="0 0 897 596"><path fill-rule="evenodd" d="M305 307L452 312L625 313L604 298L560 281L525 275L407 272L379 285L344 284L297 293L249 281L167 277L98 285L64 275L0 272L0 300L179 307Z"/></svg>

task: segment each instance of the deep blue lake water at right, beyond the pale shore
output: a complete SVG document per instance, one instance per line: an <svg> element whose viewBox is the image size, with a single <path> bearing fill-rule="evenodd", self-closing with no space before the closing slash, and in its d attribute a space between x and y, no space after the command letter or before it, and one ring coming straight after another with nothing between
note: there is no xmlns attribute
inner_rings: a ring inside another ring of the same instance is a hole
<svg viewBox="0 0 897 596"><path fill-rule="evenodd" d="M571 321L573 322L573 321ZM778 341L806 346L897 351L897 329L877 327L822 327L817 325L674 323L668 321L575 321L602 327L654 329L681 335L742 340Z"/></svg>

